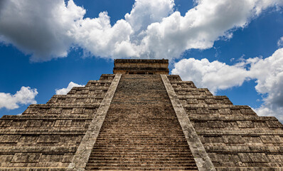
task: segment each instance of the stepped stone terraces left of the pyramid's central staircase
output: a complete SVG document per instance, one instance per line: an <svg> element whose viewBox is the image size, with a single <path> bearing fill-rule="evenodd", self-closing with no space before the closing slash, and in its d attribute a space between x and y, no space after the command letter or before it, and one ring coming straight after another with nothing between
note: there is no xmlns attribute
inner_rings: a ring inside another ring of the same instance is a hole
<svg viewBox="0 0 283 171"><path fill-rule="evenodd" d="M53 95L46 104L30 105L22 115L4 115L0 170L65 170L113 78L102 75L99 81L72 88L68 95Z"/></svg>

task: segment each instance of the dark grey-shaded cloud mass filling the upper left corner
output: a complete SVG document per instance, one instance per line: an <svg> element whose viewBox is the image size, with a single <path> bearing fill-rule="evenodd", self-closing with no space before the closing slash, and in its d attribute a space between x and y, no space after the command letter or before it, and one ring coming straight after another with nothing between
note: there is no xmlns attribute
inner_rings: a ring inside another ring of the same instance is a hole
<svg viewBox="0 0 283 171"><path fill-rule="evenodd" d="M73 43L70 36L85 9L73 1L7 0L0 7L0 41L11 43L32 61L66 57Z"/></svg>

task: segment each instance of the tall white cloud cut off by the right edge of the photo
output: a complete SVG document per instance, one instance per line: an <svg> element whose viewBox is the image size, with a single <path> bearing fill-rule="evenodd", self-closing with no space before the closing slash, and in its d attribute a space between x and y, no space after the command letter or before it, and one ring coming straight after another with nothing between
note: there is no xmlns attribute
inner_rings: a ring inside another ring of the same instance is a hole
<svg viewBox="0 0 283 171"><path fill-rule="evenodd" d="M252 61L250 76L257 79L255 89L266 94L264 103L256 111L259 115L276 115L283 122L283 48L272 56Z"/></svg>

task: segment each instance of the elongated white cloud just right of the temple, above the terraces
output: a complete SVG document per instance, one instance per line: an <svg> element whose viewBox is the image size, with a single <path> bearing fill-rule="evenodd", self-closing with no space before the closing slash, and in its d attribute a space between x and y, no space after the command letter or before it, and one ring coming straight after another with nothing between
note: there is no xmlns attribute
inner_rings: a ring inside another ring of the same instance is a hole
<svg viewBox="0 0 283 171"><path fill-rule="evenodd" d="M207 87L213 93L233 86L241 86L247 79L247 71L242 66L228 66L219 61L209 62L203 58L182 59L174 64L173 74L184 80L194 81L198 87Z"/></svg>

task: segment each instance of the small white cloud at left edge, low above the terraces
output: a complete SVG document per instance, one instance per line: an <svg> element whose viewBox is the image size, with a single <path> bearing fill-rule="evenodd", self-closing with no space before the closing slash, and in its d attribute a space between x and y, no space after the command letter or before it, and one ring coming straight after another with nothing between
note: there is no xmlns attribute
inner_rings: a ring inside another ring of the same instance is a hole
<svg viewBox="0 0 283 171"><path fill-rule="evenodd" d="M21 87L16 94L0 93L0 108L16 109L19 105L35 104L34 98L38 94L36 88Z"/></svg>

